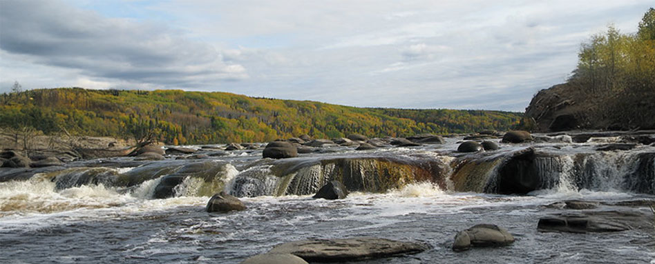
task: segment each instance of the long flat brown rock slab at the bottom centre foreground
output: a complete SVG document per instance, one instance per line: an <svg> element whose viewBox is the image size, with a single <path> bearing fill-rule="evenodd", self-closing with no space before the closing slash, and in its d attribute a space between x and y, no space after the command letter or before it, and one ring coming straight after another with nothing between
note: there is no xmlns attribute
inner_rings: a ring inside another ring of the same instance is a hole
<svg viewBox="0 0 655 264"><path fill-rule="evenodd" d="M341 262L415 254L427 249L426 245L420 243L358 237L294 241L276 245L270 253L294 254L308 262Z"/></svg>

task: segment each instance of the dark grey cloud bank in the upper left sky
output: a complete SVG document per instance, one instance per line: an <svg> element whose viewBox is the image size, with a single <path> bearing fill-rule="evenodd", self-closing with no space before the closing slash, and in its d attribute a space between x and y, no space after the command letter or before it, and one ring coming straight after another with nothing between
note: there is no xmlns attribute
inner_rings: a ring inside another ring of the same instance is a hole
<svg viewBox="0 0 655 264"><path fill-rule="evenodd" d="M36 64L77 70L94 82L200 87L247 78L208 43L166 26L102 17L57 1L3 1L0 49Z"/></svg>

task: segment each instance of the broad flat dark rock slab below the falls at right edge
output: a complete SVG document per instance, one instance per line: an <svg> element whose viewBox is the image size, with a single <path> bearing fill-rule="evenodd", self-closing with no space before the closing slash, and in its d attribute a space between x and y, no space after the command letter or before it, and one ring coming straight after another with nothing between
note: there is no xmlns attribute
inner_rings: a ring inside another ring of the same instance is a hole
<svg viewBox="0 0 655 264"><path fill-rule="evenodd" d="M539 219L537 228L541 232L620 232L640 229L652 230L652 214L639 210L621 211L576 211Z"/></svg>

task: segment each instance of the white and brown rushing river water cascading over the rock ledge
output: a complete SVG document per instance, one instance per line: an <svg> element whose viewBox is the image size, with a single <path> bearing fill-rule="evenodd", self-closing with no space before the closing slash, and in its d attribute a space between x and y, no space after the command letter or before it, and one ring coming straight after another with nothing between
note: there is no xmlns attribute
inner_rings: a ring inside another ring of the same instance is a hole
<svg viewBox="0 0 655 264"><path fill-rule="evenodd" d="M77 161L0 183L0 263L239 263L278 243L352 236L431 247L358 263L655 263L652 232L536 228L540 217L560 212L543 206L555 201L655 199L654 147L598 152L605 142L592 140L458 154L456 141L365 152L334 148L281 161L260 159L260 150L202 160ZM529 147L538 154L524 159ZM507 175L516 176L506 172L514 163L538 175L538 183L524 185L535 190L501 194ZM332 179L354 192L338 201L311 198ZM220 190L241 196L248 209L205 212ZM450 250L455 234L477 223L506 227L516 242Z"/></svg>

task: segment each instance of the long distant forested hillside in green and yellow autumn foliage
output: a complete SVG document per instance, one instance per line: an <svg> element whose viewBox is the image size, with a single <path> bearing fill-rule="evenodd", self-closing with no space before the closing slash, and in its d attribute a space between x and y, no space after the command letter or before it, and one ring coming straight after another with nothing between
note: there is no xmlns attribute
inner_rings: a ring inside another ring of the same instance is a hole
<svg viewBox="0 0 655 264"><path fill-rule="evenodd" d="M134 137L169 144L263 142L310 134L409 136L508 130L521 113L354 108L314 101L181 90L55 88L0 94L0 128Z"/></svg>

